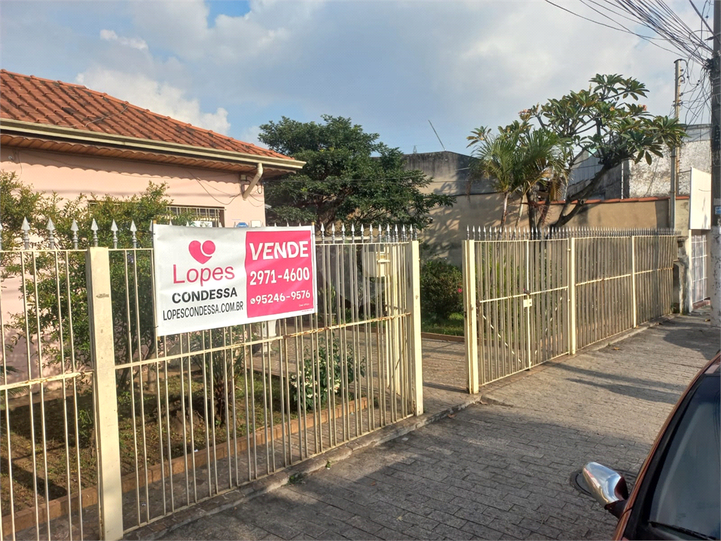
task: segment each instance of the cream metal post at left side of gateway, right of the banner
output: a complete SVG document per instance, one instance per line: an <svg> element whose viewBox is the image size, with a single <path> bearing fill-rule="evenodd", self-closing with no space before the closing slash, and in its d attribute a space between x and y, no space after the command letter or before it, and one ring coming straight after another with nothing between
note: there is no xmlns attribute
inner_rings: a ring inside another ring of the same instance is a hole
<svg viewBox="0 0 721 541"><path fill-rule="evenodd" d="M410 310L408 337L411 361L411 400L413 415L423 415L423 346L420 338L420 249L417 240L408 242L406 265L406 309Z"/></svg>

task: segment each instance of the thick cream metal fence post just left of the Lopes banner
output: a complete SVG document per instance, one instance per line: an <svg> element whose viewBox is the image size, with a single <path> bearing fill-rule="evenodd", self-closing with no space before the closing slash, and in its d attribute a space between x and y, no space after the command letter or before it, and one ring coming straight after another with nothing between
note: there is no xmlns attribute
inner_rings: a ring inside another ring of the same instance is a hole
<svg viewBox="0 0 721 541"><path fill-rule="evenodd" d="M85 272L97 420L99 537L105 541L117 541L123 538L123 485L120 478L118 395L112 340L110 252L107 248L88 249L85 254Z"/></svg>

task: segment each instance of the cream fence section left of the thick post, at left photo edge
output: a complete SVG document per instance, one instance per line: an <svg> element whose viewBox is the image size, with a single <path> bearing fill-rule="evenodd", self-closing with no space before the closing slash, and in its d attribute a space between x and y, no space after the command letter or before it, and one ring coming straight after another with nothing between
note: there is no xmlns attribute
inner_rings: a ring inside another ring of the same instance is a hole
<svg viewBox="0 0 721 541"><path fill-rule="evenodd" d="M84 263L75 250L0 251L0 539L98 529Z"/></svg>

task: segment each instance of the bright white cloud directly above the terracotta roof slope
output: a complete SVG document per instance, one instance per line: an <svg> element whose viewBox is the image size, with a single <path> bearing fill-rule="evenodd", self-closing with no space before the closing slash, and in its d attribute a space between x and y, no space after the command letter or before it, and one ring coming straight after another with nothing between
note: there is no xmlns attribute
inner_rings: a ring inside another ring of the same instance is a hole
<svg viewBox="0 0 721 541"><path fill-rule="evenodd" d="M218 133L228 133L230 129L228 111L223 107L218 107L215 113L204 113L198 99L188 99L184 90L161 84L143 74L96 67L78 74L76 82L193 126Z"/></svg>

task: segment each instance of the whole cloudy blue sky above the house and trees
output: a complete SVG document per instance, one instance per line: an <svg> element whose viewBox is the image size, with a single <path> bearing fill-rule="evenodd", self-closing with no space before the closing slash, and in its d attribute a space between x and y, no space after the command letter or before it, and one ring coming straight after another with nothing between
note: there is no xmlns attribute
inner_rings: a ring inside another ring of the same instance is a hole
<svg viewBox="0 0 721 541"><path fill-rule="evenodd" d="M700 25L688 2L669 3ZM597 72L636 76L650 110L668 114L677 58L543 1L6 0L0 23L10 71L249 142L281 115L342 115L406 152L441 150L428 120L446 149L466 152L473 128L510 123Z"/></svg>

